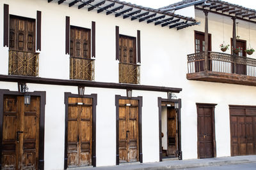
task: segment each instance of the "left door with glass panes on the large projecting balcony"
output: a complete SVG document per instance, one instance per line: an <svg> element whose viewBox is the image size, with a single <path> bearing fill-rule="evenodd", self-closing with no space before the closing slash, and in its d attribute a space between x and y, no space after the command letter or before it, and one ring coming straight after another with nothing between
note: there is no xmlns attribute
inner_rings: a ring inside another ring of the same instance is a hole
<svg viewBox="0 0 256 170"><path fill-rule="evenodd" d="M208 36L209 46L208 49L211 51L211 34ZM195 53L205 52L205 38L204 32L195 32ZM204 60L195 62L195 71L204 71Z"/></svg>

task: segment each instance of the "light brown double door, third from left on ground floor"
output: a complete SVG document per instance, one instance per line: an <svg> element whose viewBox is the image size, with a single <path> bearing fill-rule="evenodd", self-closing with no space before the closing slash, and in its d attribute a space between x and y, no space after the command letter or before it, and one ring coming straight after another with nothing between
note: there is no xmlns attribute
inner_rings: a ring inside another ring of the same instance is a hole
<svg viewBox="0 0 256 170"><path fill-rule="evenodd" d="M138 100L119 99L119 162L139 160Z"/></svg>

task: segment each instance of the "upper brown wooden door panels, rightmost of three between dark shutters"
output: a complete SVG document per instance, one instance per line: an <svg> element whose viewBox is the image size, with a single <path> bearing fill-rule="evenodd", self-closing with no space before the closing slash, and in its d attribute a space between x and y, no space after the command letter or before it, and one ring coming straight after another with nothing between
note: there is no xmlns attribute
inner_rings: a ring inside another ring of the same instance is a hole
<svg viewBox="0 0 256 170"><path fill-rule="evenodd" d="M136 38L119 36L120 62L136 64Z"/></svg>

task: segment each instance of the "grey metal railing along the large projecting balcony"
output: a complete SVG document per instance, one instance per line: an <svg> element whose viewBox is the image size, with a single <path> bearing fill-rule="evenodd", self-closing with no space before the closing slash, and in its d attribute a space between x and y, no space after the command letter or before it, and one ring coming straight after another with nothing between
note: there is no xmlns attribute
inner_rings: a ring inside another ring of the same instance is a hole
<svg viewBox="0 0 256 170"><path fill-rule="evenodd" d="M208 59L209 71L256 76L256 59L220 52L209 52ZM204 64L204 52L188 55L188 73L205 71Z"/></svg>

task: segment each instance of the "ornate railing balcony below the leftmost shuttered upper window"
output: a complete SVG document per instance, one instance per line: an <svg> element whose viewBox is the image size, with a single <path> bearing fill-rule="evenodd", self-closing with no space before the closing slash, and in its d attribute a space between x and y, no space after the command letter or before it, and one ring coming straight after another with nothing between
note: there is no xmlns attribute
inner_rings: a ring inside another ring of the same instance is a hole
<svg viewBox="0 0 256 170"><path fill-rule="evenodd" d="M38 76L39 53L9 50L8 74Z"/></svg>

